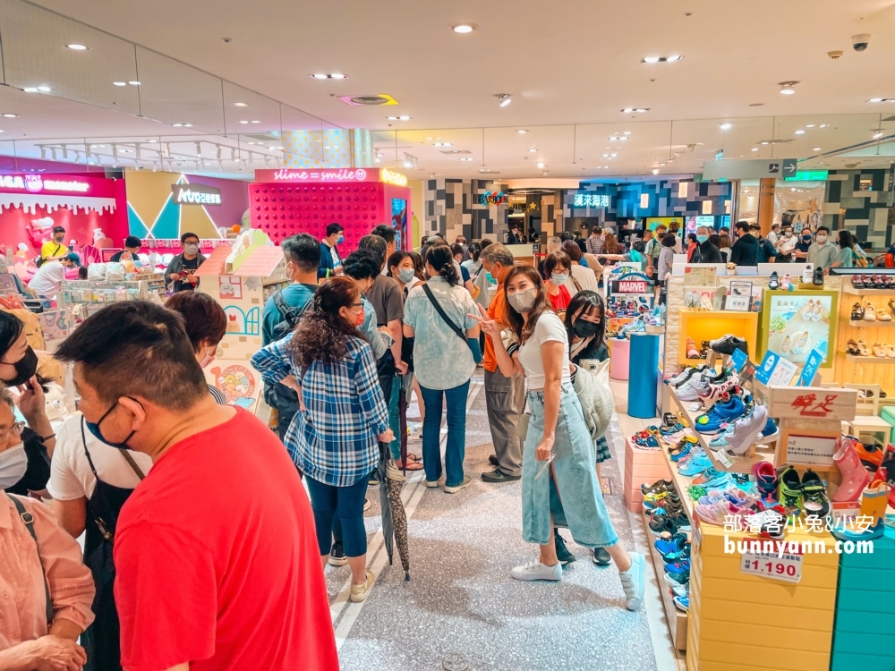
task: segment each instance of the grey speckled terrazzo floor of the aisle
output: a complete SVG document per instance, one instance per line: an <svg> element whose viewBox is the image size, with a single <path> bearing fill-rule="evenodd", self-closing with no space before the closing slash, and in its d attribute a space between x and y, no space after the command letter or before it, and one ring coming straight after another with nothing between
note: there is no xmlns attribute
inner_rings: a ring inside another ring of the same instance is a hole
<svg viewBox="0 0 895 671"><path fill-rule="evenodd" d="M617 386L617 397L624 387ZM576 546L567 531L567 546L577 561L561 582L510 578L510 569L532 561L536 549L521 537L520 483L495 485L479 478L490 470L491 454L481 371L473 378L467 407L465 471L473 485L449 495L426 489L422 471L408 473L403 497L411 581L405 582L397 554L395 565L388 565L375 488L369 491L371 509L365 516L368 565L378 573L369 598L362 604L347 602L347 566L327 568L343 671L677 671L681 660L670 650L649 562L646 603L636 613L624 607L616 569L593 565L590 552ZM415 403L408 412L411 420L414 415ZM625 424L630 418L622 419ZM603 477L609 476L615 493L606 503L622 542L643 550L648 534L621 497L620 431L615 422L608 434L614 458L604 465Z"/></svg>

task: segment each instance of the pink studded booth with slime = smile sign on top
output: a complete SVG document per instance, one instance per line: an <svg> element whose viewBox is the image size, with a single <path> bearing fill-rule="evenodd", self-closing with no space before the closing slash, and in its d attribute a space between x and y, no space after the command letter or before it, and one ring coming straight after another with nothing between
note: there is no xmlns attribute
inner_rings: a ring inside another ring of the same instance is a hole
<svg viewBox="0 0 895 671"><path fill-rule="evenodd" d="M249 187L251 227L275 242L289 235L326 235L327 225L345 227L343 255L373 226L392 225L398 249L408 242L410 189L404 174L388 168L256 170Z"/></svg>

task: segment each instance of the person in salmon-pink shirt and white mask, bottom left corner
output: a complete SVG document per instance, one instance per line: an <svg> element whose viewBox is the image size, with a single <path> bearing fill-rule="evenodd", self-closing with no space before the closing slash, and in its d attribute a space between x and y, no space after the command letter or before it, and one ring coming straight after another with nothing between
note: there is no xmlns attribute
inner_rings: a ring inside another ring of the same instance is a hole
<svg viewBox="0 0 895 671"><path fill-rule="evenodd" d="M9 392L2 396L0 485L6 488L16 477L21 425ZM93 621L90 569L47 505L8 488L0 497L0 566L0 668L80 669L87 655L78 637Z"/></svg>

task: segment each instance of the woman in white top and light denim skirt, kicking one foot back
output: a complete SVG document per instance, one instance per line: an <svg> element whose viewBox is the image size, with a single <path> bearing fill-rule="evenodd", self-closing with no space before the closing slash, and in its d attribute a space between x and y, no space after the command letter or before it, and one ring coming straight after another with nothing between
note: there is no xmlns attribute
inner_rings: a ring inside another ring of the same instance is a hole
<svg viewBox="0 0 895 671"><path fill-rule="evenodd" d="M554 526L567 526L585 548L606 548L616 563L626 607L644 600L645 560L618 541L593 465L593 440L571 384L569 343L561 319L550 310L541 276L525 266L510 271L504 285L510 329L516 344L504 345L503 330L484 310L482 329L494 344L504 375L528 379L531 418L522 465L523 538L540 546L536 561L517 566L520 581L559 581L562 564L556 553Z"/></svg>

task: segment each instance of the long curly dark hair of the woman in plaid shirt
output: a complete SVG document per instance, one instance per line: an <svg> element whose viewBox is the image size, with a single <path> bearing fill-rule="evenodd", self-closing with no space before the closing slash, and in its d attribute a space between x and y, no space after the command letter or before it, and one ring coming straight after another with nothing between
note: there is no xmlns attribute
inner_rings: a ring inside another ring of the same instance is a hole
<svg viewBox="0 0 895 671"><path fill-rule="evenodd" d="M351 308L360 295L347 277L334 277L317 288L311 308L304 311L287 346L296 367L310 366L313 361L334 363L348 352L350 336L366 340L338 313L340 308Z"/></svg>

